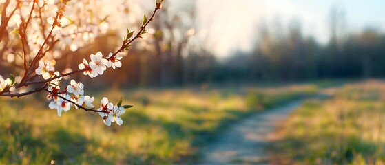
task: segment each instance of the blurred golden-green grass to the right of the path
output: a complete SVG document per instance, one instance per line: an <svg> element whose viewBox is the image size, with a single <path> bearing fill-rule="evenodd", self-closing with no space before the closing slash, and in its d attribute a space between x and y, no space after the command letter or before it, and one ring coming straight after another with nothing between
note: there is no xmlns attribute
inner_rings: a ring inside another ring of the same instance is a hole
<svg viewBox="0 0 385 165"><path fill-rule="evenodd" d="M309 100L268 147L275 164L385 164L385 83L345 85Z"/></svg>

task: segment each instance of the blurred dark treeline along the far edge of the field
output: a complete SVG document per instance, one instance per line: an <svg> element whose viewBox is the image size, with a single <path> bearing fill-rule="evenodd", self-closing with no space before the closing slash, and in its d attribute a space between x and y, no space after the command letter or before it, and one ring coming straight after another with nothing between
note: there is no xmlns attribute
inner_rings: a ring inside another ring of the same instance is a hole
<svg viewBox="0 0 385 165"><path fill-rule="evenodd" d="M125 82L167 86L385 76L385 35L370 29L332 36L327 44L303 37L298 29L280 38L265 34L253 52L235 52L225 60L204 50L168 53L161 53L160 61L152 52L130 56Z"/></svg>

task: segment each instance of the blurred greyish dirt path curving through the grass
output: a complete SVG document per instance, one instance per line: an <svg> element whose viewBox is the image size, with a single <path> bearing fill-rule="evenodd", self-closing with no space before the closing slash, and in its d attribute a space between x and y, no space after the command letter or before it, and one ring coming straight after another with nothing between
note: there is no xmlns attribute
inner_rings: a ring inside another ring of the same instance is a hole
<svg viewBox="0 0 385 165"><path fill-rule="evenodd" d="M234 124L218 141L202 150L205 157L200 164L268 164L263 148L270 133L301 104L302 101L291 102Z"/></svg>

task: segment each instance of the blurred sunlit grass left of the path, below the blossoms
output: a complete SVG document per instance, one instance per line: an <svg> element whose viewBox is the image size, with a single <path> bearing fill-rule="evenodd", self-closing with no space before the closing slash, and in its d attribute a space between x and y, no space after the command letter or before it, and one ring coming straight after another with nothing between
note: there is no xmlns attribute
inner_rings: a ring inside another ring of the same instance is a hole
<svg viewBox="0 0 385 165"><path fill-rule="evenodd" d="M314 85L95 92L133 104L123 126L71 109L62 117L44 96L0 98L0 164L190 164L227 125L267 107L315 94Z"/></svg>

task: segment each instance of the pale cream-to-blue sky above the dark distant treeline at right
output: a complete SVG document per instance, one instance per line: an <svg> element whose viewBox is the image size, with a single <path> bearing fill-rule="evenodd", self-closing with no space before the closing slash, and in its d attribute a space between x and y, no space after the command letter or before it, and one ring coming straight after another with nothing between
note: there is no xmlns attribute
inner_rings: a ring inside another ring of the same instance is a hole
<svg viewBox="0 0 385 165"><path fill-rule="evenodd" d="M200 27L211 27L200 36L218 56L226 56L237 48L249 50L258 24L278 17L284 26L301 21L305 35L326 43L332 5L345 11L348 32L366 27L385 32L385 0L199 0Z"/></svg>

